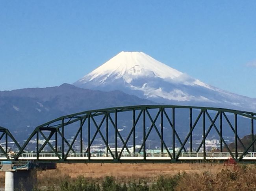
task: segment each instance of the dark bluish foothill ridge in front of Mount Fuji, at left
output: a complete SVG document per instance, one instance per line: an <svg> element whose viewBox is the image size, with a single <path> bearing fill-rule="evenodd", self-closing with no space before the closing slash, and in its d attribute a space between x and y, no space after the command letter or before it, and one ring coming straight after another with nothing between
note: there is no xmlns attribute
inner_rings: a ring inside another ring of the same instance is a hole
<svg viewBox="0 0 256 191"><path fill-rule="evenodd" d="M36 126L59 116L140 104L156 103L118 90L103 92L70 84L0 91L0 126L7 127L19 137L27 138Z"/></svg>

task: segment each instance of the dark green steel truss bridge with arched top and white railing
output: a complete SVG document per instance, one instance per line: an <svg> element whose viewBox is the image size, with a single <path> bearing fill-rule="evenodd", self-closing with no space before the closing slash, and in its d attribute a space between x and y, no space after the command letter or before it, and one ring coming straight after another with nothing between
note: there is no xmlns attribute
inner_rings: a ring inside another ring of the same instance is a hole
<svg viewBox="0 0 256 191"><path fill-rule="evenodd" d="M5 141L0 160L256 162L255 120L256 113L214 107L150 105L84 111L37 126L23 146L0 127L0 143ZM249 135L246 144L240 134ZM15 152L7 149L10 140Z"/></svg>

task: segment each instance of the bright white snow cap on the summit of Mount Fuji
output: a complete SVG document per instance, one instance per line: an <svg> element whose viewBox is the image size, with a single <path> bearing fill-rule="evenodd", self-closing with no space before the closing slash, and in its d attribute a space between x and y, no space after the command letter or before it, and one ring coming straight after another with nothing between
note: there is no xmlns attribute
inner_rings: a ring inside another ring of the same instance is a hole
<svg viewBox="0 0 256 191"><path fill-rule="evenodd" d="M136 76L148 75L163 79L173 79L182 75L182 73L143 52L122 51L79 81L87 82L106 75L116 75L116 77L124 77L124 79L130 79L130 76L136 78Z"/></svg>

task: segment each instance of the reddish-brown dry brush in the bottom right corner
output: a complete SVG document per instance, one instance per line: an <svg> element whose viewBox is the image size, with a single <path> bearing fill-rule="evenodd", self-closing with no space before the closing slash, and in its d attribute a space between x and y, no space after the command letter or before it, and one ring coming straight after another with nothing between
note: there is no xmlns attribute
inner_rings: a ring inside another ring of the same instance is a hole
<svg viewBox="0 0 256 191"><path fill-rule="evenodd" d="M185 174L178 182L176 191L255 191L256 166L232 166L219 173L204 172Z"/></svg>

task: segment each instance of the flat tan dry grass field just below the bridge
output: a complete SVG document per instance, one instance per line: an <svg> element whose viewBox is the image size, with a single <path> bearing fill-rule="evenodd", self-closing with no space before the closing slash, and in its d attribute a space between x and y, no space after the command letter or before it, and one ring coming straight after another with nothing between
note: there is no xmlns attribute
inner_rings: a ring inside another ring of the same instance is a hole
<svg viewBox="0 0 256 191"><path fill-rule="evenodd" d="M40 185L58 184L66 177L102 179L114 176L117 181L145 180L155 182L159 176L170 176L186 172L198 175L208 172L217 174L227 169L223 164L57 164L57 169L37 171ZM4 172L0 172L0 185L4 185Z"/></svg>

